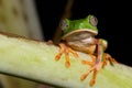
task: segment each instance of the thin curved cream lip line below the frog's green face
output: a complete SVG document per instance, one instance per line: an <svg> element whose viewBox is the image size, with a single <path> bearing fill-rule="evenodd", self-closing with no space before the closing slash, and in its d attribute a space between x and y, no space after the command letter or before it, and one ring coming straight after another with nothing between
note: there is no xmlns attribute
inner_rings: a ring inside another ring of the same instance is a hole
<svg viewBox="0 0 132 88"><path fill-rule="evenodd" d="M92 31L92 30L89 30L89 29L80 29L80 30L75 30L75 31L73 31L73 32L69 32L69 33L67 33L66 35L64 35L63 36L63 38L65 38L66 36L68 36L68 35L72 35L73 33L77 33L77 32L90 32L90 33L92 33L94 35L97 35L98 34L98 31Z"/></svg>

